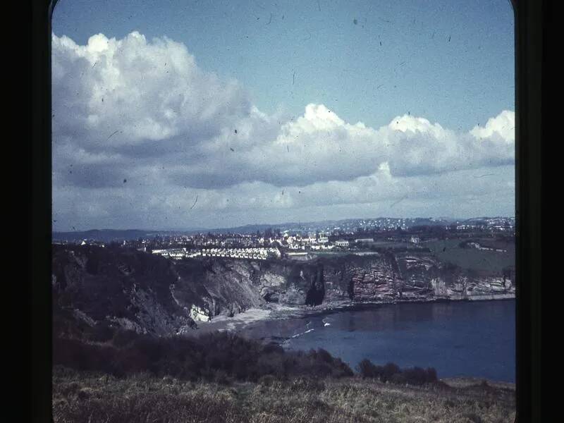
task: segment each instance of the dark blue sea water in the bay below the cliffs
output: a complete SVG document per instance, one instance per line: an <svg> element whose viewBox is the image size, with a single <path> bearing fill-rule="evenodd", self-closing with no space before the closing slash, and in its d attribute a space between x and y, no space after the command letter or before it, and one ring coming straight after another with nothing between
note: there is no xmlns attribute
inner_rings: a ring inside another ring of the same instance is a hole
<svg viewBox="0 0 564 423"><path fill-rule="evenodd" d="M289 350L324 348L353 369L369 358L375 364L434 367L439 378L515 382L515 300L375 305L261 321L243 334L279 337Z"/></svg>

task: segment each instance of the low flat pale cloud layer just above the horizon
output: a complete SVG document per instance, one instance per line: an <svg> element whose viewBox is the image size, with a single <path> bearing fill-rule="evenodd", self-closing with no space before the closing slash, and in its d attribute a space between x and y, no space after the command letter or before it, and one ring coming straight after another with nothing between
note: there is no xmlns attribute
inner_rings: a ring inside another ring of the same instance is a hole
<svg viewBox="0 0 564 423"><path fill-rule="evenodd" d="M92 227L189 228L376 216L513 214L513 166L393 178L382 166L351 181L278 188L261 182L221 189L137 185L54 191L54 219ZM70 226L69 226L70 227Z"/></svg>

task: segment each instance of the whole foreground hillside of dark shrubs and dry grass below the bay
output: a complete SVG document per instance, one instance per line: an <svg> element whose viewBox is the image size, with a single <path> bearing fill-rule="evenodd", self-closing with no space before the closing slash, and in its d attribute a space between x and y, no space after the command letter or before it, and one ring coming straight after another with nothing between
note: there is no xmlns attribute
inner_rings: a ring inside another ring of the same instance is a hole
<svg viewBox="0 0 564 423"><path fill-rule="evenodd" d="M289 352L233 333L104 341L54 337L54 422L510 422L507 388L453 387L434 369L325 350Z"/></svg>

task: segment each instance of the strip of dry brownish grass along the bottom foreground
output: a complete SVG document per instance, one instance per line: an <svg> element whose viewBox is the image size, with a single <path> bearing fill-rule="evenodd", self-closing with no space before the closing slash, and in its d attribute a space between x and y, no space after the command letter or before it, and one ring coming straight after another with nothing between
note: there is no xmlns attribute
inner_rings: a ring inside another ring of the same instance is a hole
<svg viewBox="0 0 564 423"><path fill-rule="evenodd" d="M489 384L398 386L348 377L257 384L124 379L56 367L54 422L513 422L515 392Z"/></svg>

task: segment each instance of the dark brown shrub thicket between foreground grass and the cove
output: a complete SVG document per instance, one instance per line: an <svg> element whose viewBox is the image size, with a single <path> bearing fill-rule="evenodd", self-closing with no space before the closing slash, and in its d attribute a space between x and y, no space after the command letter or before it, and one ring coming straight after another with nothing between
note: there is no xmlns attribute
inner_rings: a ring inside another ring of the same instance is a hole
<svg viewBox="0 0 564 423"><path fill-rule="evenodd" d="M262 345L233 333L209 333L197 338L155 338L117 330L111 346L54 337L54 364L97 370L117 377L138 372L178 379L257 381L271 375L342 377L353 371L326 350L286 352L279 345Z"/></svg>

